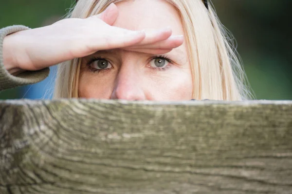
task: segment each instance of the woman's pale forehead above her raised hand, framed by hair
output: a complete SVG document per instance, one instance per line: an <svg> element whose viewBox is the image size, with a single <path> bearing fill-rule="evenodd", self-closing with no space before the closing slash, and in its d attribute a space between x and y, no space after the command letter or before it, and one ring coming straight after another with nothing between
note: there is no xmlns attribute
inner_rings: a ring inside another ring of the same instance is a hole
<svg viewBox="0 0 292 194"><path fill-rule="evenodd" d="M165 0L126 0L116 3L119 16L113 26L128 30L171 27L173 34L183 34L175 7Z"/></svg>

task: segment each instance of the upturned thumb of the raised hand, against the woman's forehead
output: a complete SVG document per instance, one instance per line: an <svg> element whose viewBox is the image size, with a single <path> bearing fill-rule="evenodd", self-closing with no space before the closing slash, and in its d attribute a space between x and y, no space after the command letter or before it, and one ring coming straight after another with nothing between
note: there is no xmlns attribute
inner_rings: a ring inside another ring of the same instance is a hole
<svg viewBox="0 0 292 194"><path fill-rule="evenodd" d="M117 19L118 15L119 12L117 6L114 3L110 3L107 9L98 14L97 17L111 26Z"/></svg>

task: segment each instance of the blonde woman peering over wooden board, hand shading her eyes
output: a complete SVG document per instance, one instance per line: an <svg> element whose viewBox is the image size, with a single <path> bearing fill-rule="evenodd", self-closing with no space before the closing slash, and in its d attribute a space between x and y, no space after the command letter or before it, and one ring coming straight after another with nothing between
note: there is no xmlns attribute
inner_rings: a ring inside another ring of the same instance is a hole
<svg viewBox="0 0 292 194"><path fill-rule="evenodd" d="M0 89L41 81L48 66L65 61L55 97L249 96L233 47L206 0L79 0L70 15L43 28L1 30Z"/></svg>

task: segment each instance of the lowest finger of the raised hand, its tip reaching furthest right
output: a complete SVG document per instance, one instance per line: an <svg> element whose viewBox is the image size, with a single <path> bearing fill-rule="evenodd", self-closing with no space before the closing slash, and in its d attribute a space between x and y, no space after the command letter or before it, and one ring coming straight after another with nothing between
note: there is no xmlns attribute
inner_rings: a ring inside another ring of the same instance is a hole
<svg viewBox="0 0 292 194"><path fill-rule="evenodd" d="M154 44L133 45L129 49L174 49L183 44L183 35L170 36L168 39Z"/></svg>

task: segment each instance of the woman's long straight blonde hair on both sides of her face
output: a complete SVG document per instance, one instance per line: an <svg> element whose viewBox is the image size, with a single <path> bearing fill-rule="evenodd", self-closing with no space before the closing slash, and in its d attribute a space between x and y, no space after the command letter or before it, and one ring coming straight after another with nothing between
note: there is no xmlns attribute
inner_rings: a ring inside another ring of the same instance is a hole
<svg viewBox="0 0 292 194"><path fill-rule="evenodd" d="M68 17L87 18L123 0L79 0ZM252 97L228 33L202 0L166 0L181 16L193 76L194 99L245 100ZM78 97L80 59L58 66L54 98Z"/></svg>

